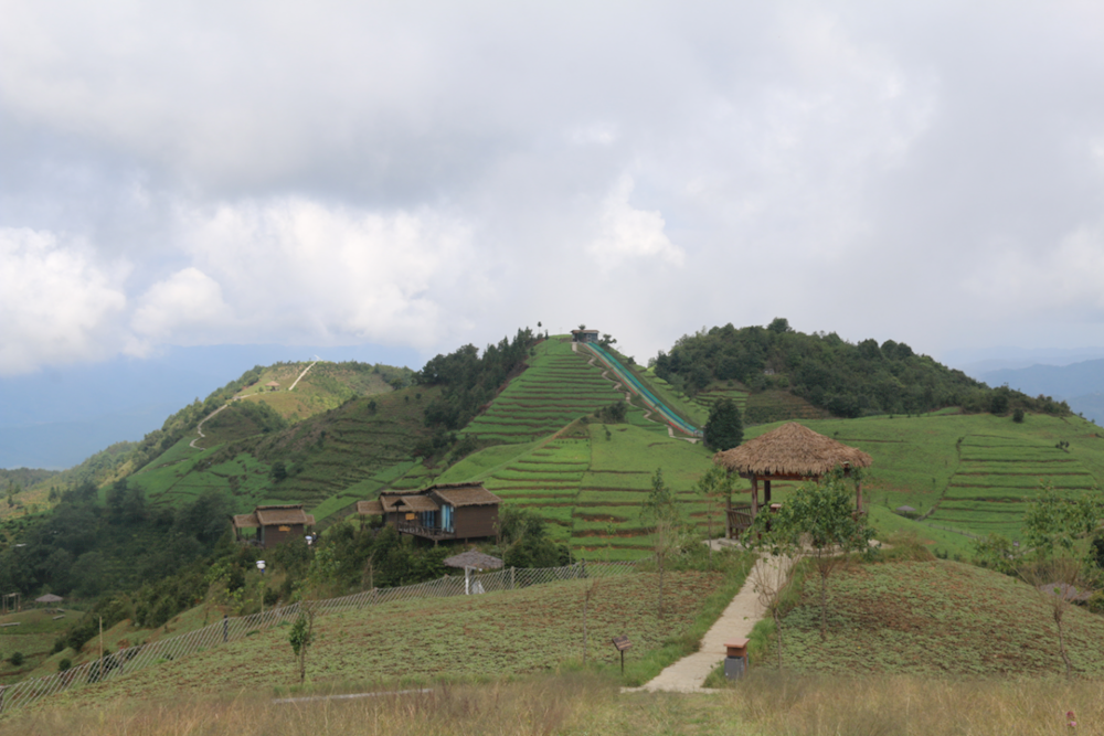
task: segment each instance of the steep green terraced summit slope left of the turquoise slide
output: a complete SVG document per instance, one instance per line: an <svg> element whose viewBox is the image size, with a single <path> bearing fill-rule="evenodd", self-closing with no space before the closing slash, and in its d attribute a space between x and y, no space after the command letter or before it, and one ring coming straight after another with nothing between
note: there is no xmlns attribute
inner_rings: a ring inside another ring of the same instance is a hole
<svg viewBox="0 0 1104 736"><path fill-rule="evenodd" d="M484 440L529 442L545 437L581 416L624 398L603 371L590 364L592 355L576 354L571 342L553 337L535 348L529 367L510 381L482 414L464 428L464 435ZM644 418L634 406L629 422L654 431L666 429Z"/></svg>

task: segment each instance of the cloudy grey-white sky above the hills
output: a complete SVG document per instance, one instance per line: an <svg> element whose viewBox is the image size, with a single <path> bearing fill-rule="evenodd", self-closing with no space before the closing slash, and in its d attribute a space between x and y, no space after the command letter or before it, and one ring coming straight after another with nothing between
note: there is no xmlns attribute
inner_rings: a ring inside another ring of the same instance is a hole
<svg viewBox="0 0 1104 736"><path fill-rule="evenodd" d="M1100 2L0 11L0 377L538 322L1104 345Z"/></svg>

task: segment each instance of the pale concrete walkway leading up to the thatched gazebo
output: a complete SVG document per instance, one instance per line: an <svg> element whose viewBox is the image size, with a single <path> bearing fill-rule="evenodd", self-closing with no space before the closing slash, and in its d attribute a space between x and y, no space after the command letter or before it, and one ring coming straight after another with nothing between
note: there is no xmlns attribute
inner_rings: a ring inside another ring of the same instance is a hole
<svg viewBox="0 0 1104 736"><path fill-rule="evenodd" d="M777 557L763 557L755 563L755 568L785 565L788 569L793 564L789 558L779 561ZM764 570L767 575L772 573ZM693 654L683 657L675 664L660 672L654 680L640 687L623 687L622 692L657 692L670 693L709 693L718 692L702 687L705 678L724 661L724 644L733 639L746 639L751 636L756 621L763 618L765 610L755 593L757 569L752 569L740 593L732 599L721 617L701 639L701 649Z"/></svg>

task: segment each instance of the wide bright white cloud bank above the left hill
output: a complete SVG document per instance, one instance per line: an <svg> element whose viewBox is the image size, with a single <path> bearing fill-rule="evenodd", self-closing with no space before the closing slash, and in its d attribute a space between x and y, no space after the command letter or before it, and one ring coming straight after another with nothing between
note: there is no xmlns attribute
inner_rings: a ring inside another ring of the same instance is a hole
<svg viewBox="0 0 1104 736"><path fill-rule="evenodd" d="M227 334L424 348L456 324L452 300L491 291L473 268L469 226L428 209L380 213L280 198L182 218L182 248L202 273L190 269L180 295L202 286L212 313L229 317ZM225 305L215 307L219 285Z"/></svg>

